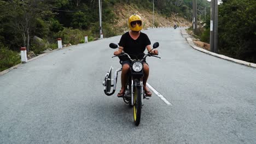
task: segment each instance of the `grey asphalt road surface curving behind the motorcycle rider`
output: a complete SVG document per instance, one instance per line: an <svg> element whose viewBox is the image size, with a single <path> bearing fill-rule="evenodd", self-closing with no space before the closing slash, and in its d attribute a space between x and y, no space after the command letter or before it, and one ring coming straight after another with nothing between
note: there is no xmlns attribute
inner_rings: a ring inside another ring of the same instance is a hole
<svg viewBox="0 0 256 144"><path fill-rule="evenodd" d="M0 75L0 143L256 143L255 68L192 49L179 28L144 33L160 43L148 83L172 105L153 93L136 127L103 93L120 36L74 45Z"/></svg>

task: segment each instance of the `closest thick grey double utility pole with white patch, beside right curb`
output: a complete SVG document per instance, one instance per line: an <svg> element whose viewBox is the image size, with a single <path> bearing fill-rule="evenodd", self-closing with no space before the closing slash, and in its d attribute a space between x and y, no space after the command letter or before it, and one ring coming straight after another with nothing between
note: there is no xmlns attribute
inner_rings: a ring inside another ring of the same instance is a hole
<svg viewBox="0 0 256 144"><path fill-rule="evenodd" d="M210 47L218 53L218 0L211 1Z"/></svg>

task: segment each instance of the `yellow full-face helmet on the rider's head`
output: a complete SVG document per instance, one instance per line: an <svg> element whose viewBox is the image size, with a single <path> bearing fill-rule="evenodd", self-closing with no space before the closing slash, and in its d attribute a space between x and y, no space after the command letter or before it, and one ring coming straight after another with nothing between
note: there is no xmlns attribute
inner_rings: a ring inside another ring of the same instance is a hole
<svg viewBox="0 0 256 144"><path fill-rule="evenodd" d="M132 27L132 22L135 23L133 25L136 25L136 26ZM131 29L131 31L135 31L135 32L141 31L141 29L142 29L141 16L136 15L136 14L131 15L129 17L128 23L129 23L129 28Z"/></svg>

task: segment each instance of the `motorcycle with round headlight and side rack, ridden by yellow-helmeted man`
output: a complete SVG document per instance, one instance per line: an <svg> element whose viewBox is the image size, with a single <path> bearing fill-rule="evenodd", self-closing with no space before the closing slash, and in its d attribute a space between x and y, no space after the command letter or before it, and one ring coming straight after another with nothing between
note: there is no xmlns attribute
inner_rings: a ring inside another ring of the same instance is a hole
<svg viewBox="0 0 256 144"><path fill-rule="evenodd" d="M117 44L113 44L113 43L109 44L109 47L112 49L117 49L117 48L120 49ZM156 49L157 47L159 47L158 42L153 44L153 49ZM150 54L149 52L147 54L143 53L144 56L141 59L139 59L137 56L135 59L132 59L125 52L122 52L118 56L113 56L113 57L119 57L119 58L122 56L127 56L127 58L129 58L130 61L132 62L131 64L132 66L130 67L129 74L127 76L127 83L125 86L125 93L124 93L123 100L126 104L129 104L130 106L133 107L133 120L136 126L138 126L141 121L141 110L143 106L143 99L149 99L147 98L147 95L143 91L143 81L142 81L143 80L142 77L144 75L143 60L146 59L146 57L158 57ZM122 68L119 68L115 71L114 79L112 79L112 67L110 67L108 73L105 75L103 80L103 86L104 86L104 93L106 95L109 96L114 94L115 88L117 86L118 73L121 70ZM113 84L112 84L112 81L114 81ZM112 89L112 92L110 92L111 89Z"/></svg>

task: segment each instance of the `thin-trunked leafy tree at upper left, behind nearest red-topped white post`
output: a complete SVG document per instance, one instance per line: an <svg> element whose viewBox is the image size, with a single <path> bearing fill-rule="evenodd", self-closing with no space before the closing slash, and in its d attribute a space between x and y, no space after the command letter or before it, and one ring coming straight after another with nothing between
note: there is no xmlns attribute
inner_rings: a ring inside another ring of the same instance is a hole
<svg viewBox="0 0 256 144"><path fill-rule="evenodd" d="M9 26L21 35L22 46L26 47L28 52L30 51L31 32L36 28L37 19L46 14L44 11L48 8L39 0L14 0L7 3L5 10L10 11L7 15L10 20Z"/></svg>

